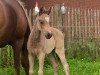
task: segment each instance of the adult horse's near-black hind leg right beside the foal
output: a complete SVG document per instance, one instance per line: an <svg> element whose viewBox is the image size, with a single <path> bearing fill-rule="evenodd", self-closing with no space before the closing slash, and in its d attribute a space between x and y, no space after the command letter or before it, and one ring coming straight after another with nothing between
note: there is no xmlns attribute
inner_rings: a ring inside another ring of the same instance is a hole
<svg viewBox="0 0 100 75"><path fill-rule="evenodd" d="M28 59L28 50L27 50L27 41L28 41L29 34L30 34L30 30L29 28L27 28L24 37L22 52L21 52L21 63L23 68L25 69L26 75L29 75L29 59Z"/></svg>

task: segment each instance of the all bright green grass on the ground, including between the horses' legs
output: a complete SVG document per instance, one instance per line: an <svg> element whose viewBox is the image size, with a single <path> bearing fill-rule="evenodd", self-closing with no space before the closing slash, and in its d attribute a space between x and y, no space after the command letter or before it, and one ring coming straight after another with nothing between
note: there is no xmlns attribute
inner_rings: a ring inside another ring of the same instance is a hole
<svg viewBox="0 0 100 75"><path fill-rule="evenodd" d="M70 66L70 75L100 75L100 61L88 61L70 59L68 60ZM37 75L37 65L35 66L35 75ZM0 68L0 75L14 75L14 68ZM21 75L25 75L21 68ZM44 75L53 75L53 68L46 64L44 67ZM64 75L63 67L60 65L59 75Z"/></svg>

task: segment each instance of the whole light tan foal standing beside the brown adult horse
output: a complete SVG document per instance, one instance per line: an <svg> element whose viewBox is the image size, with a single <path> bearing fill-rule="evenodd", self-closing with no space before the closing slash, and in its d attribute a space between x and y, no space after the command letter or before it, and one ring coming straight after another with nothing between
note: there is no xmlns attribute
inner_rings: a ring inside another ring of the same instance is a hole
<svg viewBox="0 0 100 75"><path fill-rule="evenodd" d="M43 65L46 54L50 54L50 59L54 66L54 75L58 75L58 66L56 66L56 60L54 60L54 56L51 54L53 50L55 50L55 53L59 56L65 74L69 75L69 67L64 53L64 36L58 29L50 27L49 15L44 13L43 9L41 11L42 14L36 17L27 43L30 65L29 75L34 74L33 67L35 55L39 59L38 75L43 75Z"/></svg>

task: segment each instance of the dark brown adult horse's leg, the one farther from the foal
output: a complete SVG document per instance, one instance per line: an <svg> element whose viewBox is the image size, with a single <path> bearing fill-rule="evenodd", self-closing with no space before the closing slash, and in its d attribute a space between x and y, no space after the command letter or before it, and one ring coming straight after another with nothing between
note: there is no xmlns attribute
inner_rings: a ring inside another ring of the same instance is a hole
<svg viewBox="0 0 100 75"><path fill-rule="evenodd" d="M22 50L22 45L23 45L23 39L17 40L14 45L14 66L15 66L15 71L16 75L20 75L20 53Z"/></svg>

